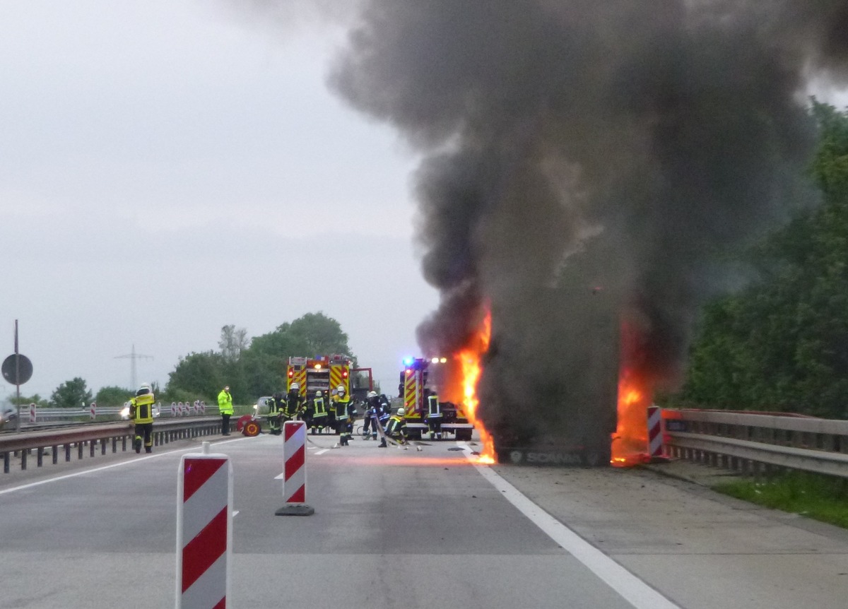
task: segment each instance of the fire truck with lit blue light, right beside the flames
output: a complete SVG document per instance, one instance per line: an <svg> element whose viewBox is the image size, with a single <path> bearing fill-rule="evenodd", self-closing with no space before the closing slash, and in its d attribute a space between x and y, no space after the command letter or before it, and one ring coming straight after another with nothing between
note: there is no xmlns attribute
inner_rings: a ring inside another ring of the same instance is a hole
<svg viewBox="0 0 848 609"><path fill-rule="evenodd" d="M412 439L421 439L421 433L427 432L427 399L424 390L435 387L446 379L447 359L434 357L408 357L404 360L404 370L400 372L399 395L403 399L406 429ZM457 440L470 440L474 426L468 422L461 405L439 400L442 411L442 432L454 433Z"/></svg>

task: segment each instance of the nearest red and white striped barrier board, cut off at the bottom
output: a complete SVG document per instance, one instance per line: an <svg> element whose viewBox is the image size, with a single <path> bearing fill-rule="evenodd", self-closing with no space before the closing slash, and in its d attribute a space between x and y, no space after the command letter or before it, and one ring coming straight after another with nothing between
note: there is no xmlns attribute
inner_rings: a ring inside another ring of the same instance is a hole
<svg viewBox="0 0 848 609"><path fill-rule="evenodd" d="M232 562L232 467L227 455L180 461L176 609L226 609Z"/></svg>

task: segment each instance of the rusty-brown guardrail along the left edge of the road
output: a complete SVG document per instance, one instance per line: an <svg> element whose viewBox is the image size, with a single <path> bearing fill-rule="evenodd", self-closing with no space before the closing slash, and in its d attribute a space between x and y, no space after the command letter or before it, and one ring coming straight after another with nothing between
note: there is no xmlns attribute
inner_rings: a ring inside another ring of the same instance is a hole
<svg viewBox="0 0 848 609"><path fill-rule="evenodd" d="M236 422L231 422L232 427ZM181 420L159 421L153 423L153 445L160 446L179 439L191 439L199 436L219 435L220 416L184 418ZM64 461L70 461L72 448L77 458L82 459L88 447L88 454L98 452L105 455L109 447L116 453L126 451L132 446L133 426L131 422L109 425L90 425L52 430L47 432L11 433L0 436L0 455L3 457L3 472L10 471L11 461L20 457L20 468L27 467L28 456L35 452L36 464L42 467L45 455L51 455L53 463L59 462L59 453L64 451Z"/></svg>

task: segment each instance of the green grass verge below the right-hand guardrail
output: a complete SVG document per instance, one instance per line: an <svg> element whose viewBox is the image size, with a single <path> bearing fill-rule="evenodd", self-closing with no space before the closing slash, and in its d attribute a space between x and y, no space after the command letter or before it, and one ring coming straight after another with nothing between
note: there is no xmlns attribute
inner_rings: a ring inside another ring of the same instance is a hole
<svg viewBox="0 0 848 609"><path fill-rule="evenodd" d="M807 472L718 483L719 493L848 528L848 479Z"/></svg>

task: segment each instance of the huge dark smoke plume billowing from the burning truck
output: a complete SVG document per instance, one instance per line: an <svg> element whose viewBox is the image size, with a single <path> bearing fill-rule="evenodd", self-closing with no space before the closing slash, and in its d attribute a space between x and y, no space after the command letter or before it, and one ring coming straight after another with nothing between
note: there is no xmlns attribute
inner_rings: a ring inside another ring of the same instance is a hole
<svg viewBox="0 0 848 609"><path fill-rule="evenodd" d="M621 314L676 381L717 253L809 198L806 82L846 75L848 0L367 0L331 80L425 154L419 340L491 306L483 421L521 442L609 431Z"/></svg>

